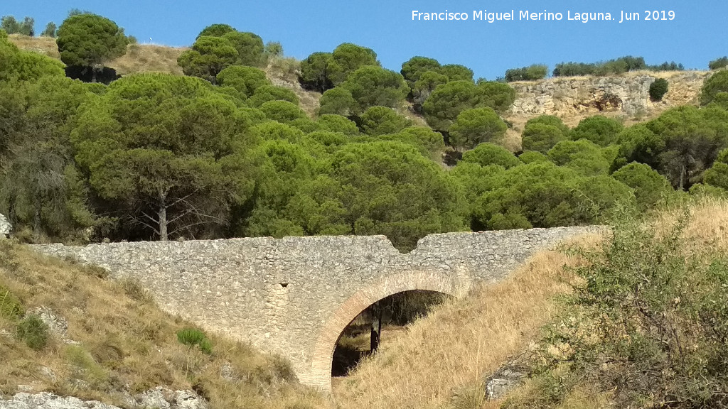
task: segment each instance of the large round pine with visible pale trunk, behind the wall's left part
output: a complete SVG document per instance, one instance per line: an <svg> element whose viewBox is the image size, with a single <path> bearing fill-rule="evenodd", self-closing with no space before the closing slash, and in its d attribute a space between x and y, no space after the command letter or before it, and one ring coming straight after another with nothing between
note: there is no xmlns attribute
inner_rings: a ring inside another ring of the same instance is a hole
<svg viewBox="0 0 728 409"><path fill-rule="evenodd" d="M150 237L204 234L250 194L236 107L191 77L143 74L84 104L71 132L90 186Z"/></svg>

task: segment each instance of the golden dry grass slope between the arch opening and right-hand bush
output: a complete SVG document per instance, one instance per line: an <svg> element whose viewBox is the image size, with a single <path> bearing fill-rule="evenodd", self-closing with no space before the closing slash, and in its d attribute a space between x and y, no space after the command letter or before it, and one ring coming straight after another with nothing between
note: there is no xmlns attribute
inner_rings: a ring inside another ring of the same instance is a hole
<svg viewBox="0 0 728 409"><path fill-rule="evenodd" d="M553 316L555 295L569 291L573 277L563 266L574 263L562 253L539 253L509 279L435 308L360 362L337 385L337 405L434 409L465 400L475 405L468 407L495 407L482 402L483 378L529 347Z"/></svg>

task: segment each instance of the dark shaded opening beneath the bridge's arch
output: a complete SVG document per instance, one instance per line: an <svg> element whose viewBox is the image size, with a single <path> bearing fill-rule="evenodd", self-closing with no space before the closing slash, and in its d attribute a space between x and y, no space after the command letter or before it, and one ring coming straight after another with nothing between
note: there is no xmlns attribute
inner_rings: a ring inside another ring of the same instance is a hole
<svg viewBox="0 0 728 409"><path fill-rule="evenodd" d="M448 298L451 295L438 291L408 290L372 303L341 331L333 351L331 376L348 376L360 360L376 353L379 345L394 340L406 325Z"/></svg>

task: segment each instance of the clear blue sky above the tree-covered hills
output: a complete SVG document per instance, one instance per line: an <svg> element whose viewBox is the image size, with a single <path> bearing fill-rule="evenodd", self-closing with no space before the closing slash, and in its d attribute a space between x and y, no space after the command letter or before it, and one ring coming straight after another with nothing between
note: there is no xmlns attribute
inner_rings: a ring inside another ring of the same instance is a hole
<svg viewBox="0 0 728 409"><path fill-rule="evenodd" d="M592 62L641 55L647 63L665 60L687 68L707 68L728 55L728 1L725 0L2 0L0 15L25 15L41 31L59 24L72 8L116 21L141 43L189 45L202 28L228 23L253 31L264 41L280 41L286 55L298 59L331 51L342 42L371 47L384 67L399 71L413 55L440 63L467 65L479 76L495 79L507 68L561 61ZM412 10L467 12L468 21L412 21ZM515 21L472 20L473 10L510 12ZM519 21L519 10L563 13L561 21ZM673 21L644 21L645 10L673 10ZM621 12L639 12L638 22L618 23ZM610 12L615 21L567 20L580 12Z"/></svg>

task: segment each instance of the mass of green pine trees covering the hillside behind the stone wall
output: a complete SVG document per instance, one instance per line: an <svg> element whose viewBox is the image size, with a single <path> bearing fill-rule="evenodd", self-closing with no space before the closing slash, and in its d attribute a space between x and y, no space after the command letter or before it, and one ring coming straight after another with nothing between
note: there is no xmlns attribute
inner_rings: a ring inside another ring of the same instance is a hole
<svg viewBox="0 0 728 409"><path fill-rule="evenodd" d="M87 53L92 38L64 40L84 19L106 27L106 60ZM298 67L280 44L228 25L167 53L103 17L68 17L59 55L84 78L102 78L103 64L151 68L144 59L167 71L107 86L67 79L57 60L12 44L21 36L0 41L0 211L24 240L385 234L408 251L430 233L599 223L619 198L648 209L724 188L728 71L705 82L701 108L633 126L537 116L514 148L503 120L513 88L427 57L396 73L341 44ZM175 56L185 76L170 74Z"/></svg>

